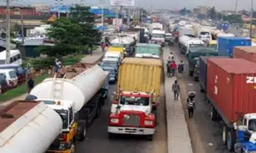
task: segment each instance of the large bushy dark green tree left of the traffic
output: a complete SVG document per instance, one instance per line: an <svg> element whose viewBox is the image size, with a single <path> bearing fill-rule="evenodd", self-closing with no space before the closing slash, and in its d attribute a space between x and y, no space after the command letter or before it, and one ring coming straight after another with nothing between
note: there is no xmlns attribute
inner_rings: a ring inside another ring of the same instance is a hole
<svg viewBox="0 0 256 153"><path fill-rule="evenodd" d="M88 45L100 41L101 34L93 29L94 18L90 7L75 5L70 8L70 17L56 18L47 22L51 27L47 36L54 46L39 47L38 52L50 56L83 53Z"/></svg>

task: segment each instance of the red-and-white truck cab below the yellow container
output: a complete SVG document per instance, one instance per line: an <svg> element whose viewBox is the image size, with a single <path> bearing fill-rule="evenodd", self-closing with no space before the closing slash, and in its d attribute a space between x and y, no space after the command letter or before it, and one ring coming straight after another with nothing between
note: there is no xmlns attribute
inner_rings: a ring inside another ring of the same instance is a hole
<svg viewBox="0 0 256 153"><path fill-rule="evenodd" d="M154 94L148 92L122 92L115 94L109 114L109 138L115 134L147 135L153 139L156 127Z"/></svg>

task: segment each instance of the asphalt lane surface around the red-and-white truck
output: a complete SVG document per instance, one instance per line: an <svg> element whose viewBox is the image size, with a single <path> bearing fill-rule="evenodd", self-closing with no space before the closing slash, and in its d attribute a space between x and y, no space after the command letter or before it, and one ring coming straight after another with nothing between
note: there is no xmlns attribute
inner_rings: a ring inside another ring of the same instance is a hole
<svg viewBox="0 0 256 153"><path fill-rule="evenodd" d="M163 88L162 88L163 89ZM157 108L157 128L154 140L148 142L141 136L118 136L108 139L108 115L111 107L111 94L115 85L110 86L109 99L105 103L99 119L87 130L86 139L76 145L76 153L166 153L166 120L164 101Z"/></svg>

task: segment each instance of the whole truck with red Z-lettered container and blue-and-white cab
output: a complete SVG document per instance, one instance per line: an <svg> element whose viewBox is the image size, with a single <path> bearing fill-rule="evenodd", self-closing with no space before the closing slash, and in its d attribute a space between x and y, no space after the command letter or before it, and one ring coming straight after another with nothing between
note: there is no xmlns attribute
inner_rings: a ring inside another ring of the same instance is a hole
<svg viewBox="0 0 256 153"><path fill-rule="evenodd" d="M208 59L211 119L223 121L222 142L236 152L256 151L256 64L245 59Z"/></svg>

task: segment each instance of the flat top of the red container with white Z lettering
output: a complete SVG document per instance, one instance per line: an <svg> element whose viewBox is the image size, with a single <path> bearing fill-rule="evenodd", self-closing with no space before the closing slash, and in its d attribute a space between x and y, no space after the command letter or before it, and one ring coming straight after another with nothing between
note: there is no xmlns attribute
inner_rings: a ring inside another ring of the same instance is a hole
<svg viewBox="0 0 256 153"><path fill-rule="evenodd" d="M256 64L245 59L209 59L228 73L256 73Z"/></svg>

